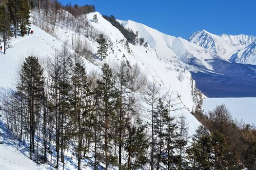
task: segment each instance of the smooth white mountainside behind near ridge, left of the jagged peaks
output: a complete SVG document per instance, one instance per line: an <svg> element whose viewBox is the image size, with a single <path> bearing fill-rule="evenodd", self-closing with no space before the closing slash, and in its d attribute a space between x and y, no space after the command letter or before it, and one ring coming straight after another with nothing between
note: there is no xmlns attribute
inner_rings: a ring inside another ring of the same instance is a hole
<svg viewBox="0 0 256 170"><path fill-rule="evenodd" d="M185 64L191 64L212 70L212 66L207 60L218 57L214 52L191 43L181 37L175 37L163 34L158 30L150 28L144 24L131 20L119 22L125 27L138 31L139 35L158 53L161 59L170 62L176 62L176 58Z"/></svg>

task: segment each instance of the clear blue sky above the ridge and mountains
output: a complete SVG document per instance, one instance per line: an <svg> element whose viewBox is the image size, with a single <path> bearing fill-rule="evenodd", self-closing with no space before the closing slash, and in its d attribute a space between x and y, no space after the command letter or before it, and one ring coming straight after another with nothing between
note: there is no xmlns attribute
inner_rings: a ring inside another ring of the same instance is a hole
<svg viewBox="0 0 256 170"><path fill-rule="evenodd" d="M256 35L256 0L60 0L93 4L102 15L134 20L165 34L188 38L213 34Z"/></svg>

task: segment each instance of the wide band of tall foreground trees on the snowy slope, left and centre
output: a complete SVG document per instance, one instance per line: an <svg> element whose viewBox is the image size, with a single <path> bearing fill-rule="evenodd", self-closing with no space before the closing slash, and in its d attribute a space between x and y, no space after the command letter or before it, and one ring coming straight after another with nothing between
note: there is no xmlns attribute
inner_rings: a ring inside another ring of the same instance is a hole
<svg viewBox="0 0 256 170"><path fill-rule="evenodd" d="M60 168L74 148L78 170L88 153L95 170L102 164L119 170L185 167L188 124L174 117L172 103L179 96L162 97L156 82L147 83L138 66L125 61L113 69L105 63L101 71L88 75L67 43L47 62L25 58L16 89L3 97L1 108L18 144L29 143L29 158L45 163L56 155ZM141 108L141 100L149 107Z"/></svg>

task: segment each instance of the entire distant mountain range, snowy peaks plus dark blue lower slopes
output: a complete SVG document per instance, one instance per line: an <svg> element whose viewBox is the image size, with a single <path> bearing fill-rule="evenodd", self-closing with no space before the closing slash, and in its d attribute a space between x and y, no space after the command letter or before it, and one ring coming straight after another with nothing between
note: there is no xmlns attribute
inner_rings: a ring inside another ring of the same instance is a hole
<svg viewBox="0 0 256 170"><path fill-rule="evenodd" d="M256 97L256 36L202 30L185 40L131 20L119 22L138 31L161 60L190 70L206 96Z"/></svg>

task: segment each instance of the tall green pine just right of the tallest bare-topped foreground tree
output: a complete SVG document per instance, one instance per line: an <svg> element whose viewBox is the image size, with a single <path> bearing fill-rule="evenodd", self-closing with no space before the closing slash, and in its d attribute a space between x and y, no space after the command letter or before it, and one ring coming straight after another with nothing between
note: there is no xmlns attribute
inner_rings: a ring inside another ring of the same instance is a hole
<svg viewBox="0 0 256 170"><path fill-rule="evenodd" d="M89 117L89 112L91 110L90 99L88 98L91 95L89 89L89 82L87 81L85 68L81 65L81 61L79 60L78 55L74 55L75 66L72 70L72 97L71 97L71 106L72 112L71 117L73 121L73 125L75 125L75 130L73 134L76 138L78 138L78 170L81 169L81 157L82 151L85 149L82 146L82 137L88 133L86 131L85 125L88 124L86 122L86 118ZM77 124L77 126L76 126ZM72 136L74 136L72 135ZM87 148L89 150L89 148Z"/></svg>

